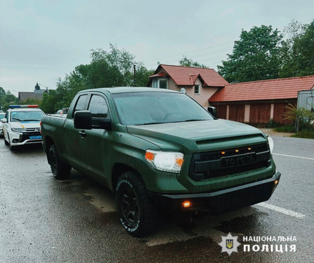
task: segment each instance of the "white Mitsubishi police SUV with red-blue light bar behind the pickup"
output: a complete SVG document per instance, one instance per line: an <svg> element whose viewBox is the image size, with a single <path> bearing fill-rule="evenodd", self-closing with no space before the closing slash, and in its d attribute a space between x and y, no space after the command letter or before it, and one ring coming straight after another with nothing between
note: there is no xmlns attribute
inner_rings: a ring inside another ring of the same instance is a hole
<svg viewBox="0 0 314 263"><path fill-rule="evenodd" d="M40 122L44 114L38 105L9 105L1 119L5 145L13 151L18 145L41 143Z"/></svg>

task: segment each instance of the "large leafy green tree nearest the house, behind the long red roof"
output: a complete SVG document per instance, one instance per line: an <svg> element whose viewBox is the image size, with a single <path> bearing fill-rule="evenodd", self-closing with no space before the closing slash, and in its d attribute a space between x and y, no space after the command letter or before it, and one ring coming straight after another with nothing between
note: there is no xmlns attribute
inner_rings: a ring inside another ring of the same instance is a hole
<svg viewBox="0 0 314 263"><path fill-rule="evenodd" d="M278 78L282 38L271 25L242 29L232 54L218 66L219 74L230 83Z"/></svg>

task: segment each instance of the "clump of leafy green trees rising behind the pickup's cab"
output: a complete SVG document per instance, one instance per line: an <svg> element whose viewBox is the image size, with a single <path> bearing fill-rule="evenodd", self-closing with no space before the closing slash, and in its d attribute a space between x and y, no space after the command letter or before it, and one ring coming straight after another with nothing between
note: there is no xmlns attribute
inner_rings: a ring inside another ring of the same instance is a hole
<svg viewBox="0 0 314 263"><path fill-rule="evenodd" d="M137 67L136 84L146 86L148 70L142 63L134 61L134 56L125 50L119 50L110 44L110 51L91 50L91 62L74 68L64 79L57 80L57 89L44 94L40 108L48 114L62 107L69 107L78 91L113 86L133 86L133 65Z"/></svg>

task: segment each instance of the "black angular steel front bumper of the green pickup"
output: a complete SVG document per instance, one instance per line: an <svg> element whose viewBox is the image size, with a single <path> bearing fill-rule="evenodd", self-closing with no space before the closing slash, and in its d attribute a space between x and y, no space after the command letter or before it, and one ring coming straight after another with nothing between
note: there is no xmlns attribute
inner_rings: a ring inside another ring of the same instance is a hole
<svg viewBox="0 0 314 263"><path fill-rule="evenodd" d="M206 210L215 215L267 201L276 189L280 176L281 173L276 170L272 178L211 193L167 195L149 192L149 194L155 205L163 209ZM182 208L182 202L186 200L192 205L189 208Z"/></svg>

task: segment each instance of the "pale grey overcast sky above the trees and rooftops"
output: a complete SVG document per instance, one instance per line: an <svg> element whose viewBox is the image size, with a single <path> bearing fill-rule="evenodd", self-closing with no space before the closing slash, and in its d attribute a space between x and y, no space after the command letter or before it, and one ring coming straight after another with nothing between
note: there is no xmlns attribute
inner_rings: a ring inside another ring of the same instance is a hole
<svg viewBox="0 0 314 263"><path fill-rule="evenodd" d="M217 69L242 28L282 29L313 19L313 10L309 0L0 0L0 86L16 96L36 82L55 89L57 78L89 63L90 49L110 42L148 68L178 64L186 53Z"/></svg>

